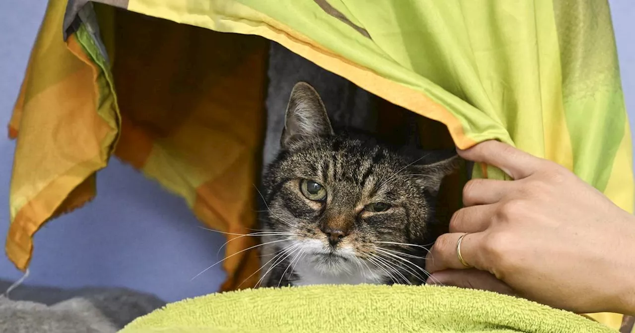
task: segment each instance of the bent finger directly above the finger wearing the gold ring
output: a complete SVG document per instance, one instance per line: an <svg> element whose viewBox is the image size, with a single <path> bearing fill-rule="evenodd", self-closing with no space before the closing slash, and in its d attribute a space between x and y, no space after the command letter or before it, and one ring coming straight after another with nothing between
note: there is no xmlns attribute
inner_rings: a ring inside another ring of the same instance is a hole
<svg viewBox="0 0 635 333"><path fill-rule="evenodd" d="M459 209L452 214L449 231L455 233L483 232L491 225L496 212L497 207L494 204Z"/></svg>

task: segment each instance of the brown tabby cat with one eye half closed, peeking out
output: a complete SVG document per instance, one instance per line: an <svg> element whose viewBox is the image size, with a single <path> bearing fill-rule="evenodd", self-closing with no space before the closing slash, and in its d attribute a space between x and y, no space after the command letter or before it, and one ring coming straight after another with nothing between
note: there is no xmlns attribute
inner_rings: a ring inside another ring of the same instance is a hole
<svg viewBox="0 0 635 333"><path fill-rule="evenodd" d="M458 167L455 150L334 129L305 82L291 91L280 147L263 176L262 286L425 282L435 198Z"/></svg>

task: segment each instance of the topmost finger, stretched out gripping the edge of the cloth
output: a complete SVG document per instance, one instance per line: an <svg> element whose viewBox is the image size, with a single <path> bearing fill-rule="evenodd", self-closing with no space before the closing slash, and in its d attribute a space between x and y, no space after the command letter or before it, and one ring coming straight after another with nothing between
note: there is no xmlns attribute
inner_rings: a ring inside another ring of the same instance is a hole
<svg viewBox="0 0 635 333"><path fill-rule="evenodd" d="M543 159L495 140L484 141L457 152L464 159L498 167L515 180L530 176L544 163Z"/></svg>

